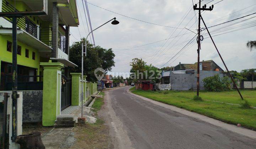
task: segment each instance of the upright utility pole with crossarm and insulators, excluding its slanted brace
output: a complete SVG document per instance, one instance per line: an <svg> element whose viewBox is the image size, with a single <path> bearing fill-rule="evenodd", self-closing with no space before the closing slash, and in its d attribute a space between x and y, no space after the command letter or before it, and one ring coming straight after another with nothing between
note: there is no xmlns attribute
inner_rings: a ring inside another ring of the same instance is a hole
<svg viewBox="0 0 256 149"><path fill-rule="evenodd" d="M209 8L206 8L206 5L204 5L202 8L201 8L201 0L199 0L199 8L197 8L197 4L195 4L193 6L194 10L199 10L198 12L198 37L197 37L197 44L198 44L198 47L197 47L197 96L199 96L199 71L200 71L200 49L201 49L201 46L200 46L200 41L201 41L201 35L200 35L200 17L201 17L201 10L209 10L209 11L212 11L213 10L213 5L210 6Z"/></svg>

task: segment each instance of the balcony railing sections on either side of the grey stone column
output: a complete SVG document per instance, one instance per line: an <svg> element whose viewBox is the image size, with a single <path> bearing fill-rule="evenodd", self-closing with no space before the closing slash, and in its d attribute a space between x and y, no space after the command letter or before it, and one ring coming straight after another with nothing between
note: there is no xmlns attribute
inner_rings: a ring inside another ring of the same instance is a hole
<svg viewBox="0 0 256 149"><path fill-rule="evenodd" d="M40 27L39 40L49 46L52 46L52 28ZM66 53L66 38L60 32L58 32L58 48Z"/></svg>

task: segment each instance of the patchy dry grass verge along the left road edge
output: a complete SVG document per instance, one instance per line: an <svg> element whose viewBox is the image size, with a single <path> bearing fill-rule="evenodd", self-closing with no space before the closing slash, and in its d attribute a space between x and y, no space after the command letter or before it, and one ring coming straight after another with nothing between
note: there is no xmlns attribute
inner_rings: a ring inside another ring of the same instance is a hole
<svg viewBox="0 0 256 149"><path fill-rule="evenodd" d="M104 95L104 92L100 92L100 95ZM96 98L91 109L96 113L101 109L104 104L103 98ZM97 121L94 124L85 123L77 125L74 128L76 143L72 148L107 148L108 146L108 127L104 125L104 121L97 117Z"/></svg>

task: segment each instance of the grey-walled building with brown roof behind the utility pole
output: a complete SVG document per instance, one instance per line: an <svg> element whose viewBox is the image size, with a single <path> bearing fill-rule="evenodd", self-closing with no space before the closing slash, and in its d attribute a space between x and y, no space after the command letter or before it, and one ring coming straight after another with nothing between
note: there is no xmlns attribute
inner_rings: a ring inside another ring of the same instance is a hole
<svg viewBox="0 0 256 149"><path fill-rule="evenodd" d="M203 88L203 79L218 74L224 76L224 71L213 60L199 63L199 86ZM194 90L197 85L197 62L194 64L178 64L173 71L163 71L159 89ZM167 84L167 85L165 85Z"/></svg>

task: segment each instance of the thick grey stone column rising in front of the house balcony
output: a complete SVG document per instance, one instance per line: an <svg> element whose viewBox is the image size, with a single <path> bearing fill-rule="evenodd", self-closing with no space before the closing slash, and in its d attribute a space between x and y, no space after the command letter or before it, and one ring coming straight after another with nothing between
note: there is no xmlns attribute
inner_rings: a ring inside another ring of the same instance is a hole
<svg viewBox="0 0 256 149"><path fill-rule="evenodd" d="M58 58L59 9L57 2L53 2L52 9L52 57Z"/></svg>

